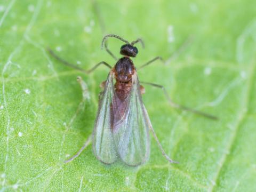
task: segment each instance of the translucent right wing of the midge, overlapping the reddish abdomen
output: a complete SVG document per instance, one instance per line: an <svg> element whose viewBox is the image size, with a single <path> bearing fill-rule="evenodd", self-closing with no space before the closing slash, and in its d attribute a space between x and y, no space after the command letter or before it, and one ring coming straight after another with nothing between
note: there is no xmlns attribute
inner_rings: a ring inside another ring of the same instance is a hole
<svg viewBox="0 0 256 192"><path fill-rule="evenodd" d="M150 151L150 121L143 105L136 73L128 97L121 101L114 94L113 137L119 157L128 165L147 161Z"/></svg>

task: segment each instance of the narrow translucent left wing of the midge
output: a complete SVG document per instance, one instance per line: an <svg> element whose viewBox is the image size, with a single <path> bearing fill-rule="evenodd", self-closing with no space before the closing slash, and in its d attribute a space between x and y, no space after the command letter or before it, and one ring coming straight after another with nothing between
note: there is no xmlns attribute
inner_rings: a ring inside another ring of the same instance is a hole
<svg viewBox="0 0 256 192"><path fill-rule="evenodd" d="M98 115L93 131L93 151L95 156L103 163L113 163L118 154L111 131L111 103L114 95L114 74L109 73L105 90L100 98Z"/></svg>

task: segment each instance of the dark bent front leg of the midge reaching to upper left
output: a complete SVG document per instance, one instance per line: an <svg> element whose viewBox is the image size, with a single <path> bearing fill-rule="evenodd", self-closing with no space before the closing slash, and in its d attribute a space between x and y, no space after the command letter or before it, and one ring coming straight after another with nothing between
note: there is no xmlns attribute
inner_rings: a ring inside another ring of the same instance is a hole
<svg viewBox="0 0 256 192"><path fill-rule="evenodd" d="M57 54L55 54L51 49L47 49L47 51L52 55L53 58L57 59L58 61L62 62L64 65L68 66L68 67L71 67L71 68L74 68L74 69L77 69L79 71L82 71L83 73L86 73L86 74L89 74L91 73L93 70L95 70L96 68L98 68L100 65L105 65L107 66L108 68L112 68L108 63L106 63L105 61L101 61L99 62L97 65L95 65L94 67L92 67L91 69L89 70L84 70L80 67L77 67L76 65L66 61L66 60L63 60L62 58L60 58Z"/></svg>

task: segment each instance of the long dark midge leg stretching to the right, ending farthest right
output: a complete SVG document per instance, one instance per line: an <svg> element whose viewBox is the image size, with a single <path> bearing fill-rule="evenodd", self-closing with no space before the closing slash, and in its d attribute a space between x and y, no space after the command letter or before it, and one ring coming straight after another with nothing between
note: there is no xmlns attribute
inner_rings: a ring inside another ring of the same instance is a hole
<svg viewBox="0 0 256 192"><path fill-rule="evenodd" d="M163 85L158 85L158 84L155 84L155 83L148 83L148 82L140 82L140 83L144 83L144 84L151 85L151 86L158 87L158 88L162 89L164 94L165 94L166 99L169 101L170 105L172 107L174 107L174 108L190 111L192 113L195 113L195 114L198 114L198 115L202 115L204 117L207 117L207 118L210 118L210 119L213 119L213 120L218 120L218 117L216 117L216 116L204 113L203 111L199 111L199 110L196 110L196 109L193 109L193 108L182 106L182 105L179 105L178 103L173 102L171 100L171 98L169 97L169 95L168 95L168 93L167 93L167 91L166 91L166 89L164 88Z"/></svg>

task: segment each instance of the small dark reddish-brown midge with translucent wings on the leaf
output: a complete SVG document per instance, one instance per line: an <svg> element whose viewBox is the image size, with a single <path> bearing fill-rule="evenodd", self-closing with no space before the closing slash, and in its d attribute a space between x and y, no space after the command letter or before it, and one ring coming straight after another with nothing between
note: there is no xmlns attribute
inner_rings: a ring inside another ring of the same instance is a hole
<svg viewBox="0 0 256 192"><path fill-rule="evenodd" d="M52 50L49 50L53 57L62 61L65 65L82 70L85 73L91 73L100 65L105 65L110 68L107 80L101 84L103 91L99 96L98 114L95 119L92 137L90 137L78 153L68 159L66 163L72 161L81 154L85 146L92 140L93 152L99 161L111 164L116 162L117 159L121 159L127 165L138 166L149 159L149 131L153 133L158 147L167 161L170 163L178 163L173 161L165 153L150 123L147 110L142 102L141 95L145 93L145 89L140 85L137 69L131 59L138 54L138 49L134 44L140 42L143 46L142 40L138 38L136 41L129 43L117 35L110 34L103 37L101 46L103 47L103 45L105 45L106 51L114 59L116 59L116 57L110 52L106 43L106 39L109 37L117 38L125 43L121 46L120 50L123 57L117 60L114 67L111 67L108 63L102 61L92 69L86 71L62 60L55 55ZM156 57L145 63L142 67L149 65L157 59L161 58ZM205 117L216 119L216 117L212 115L172 102L163 86L153 83L144 83L161 88L173 107L189 110Z"/></svg>

